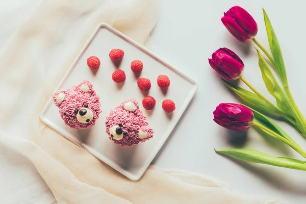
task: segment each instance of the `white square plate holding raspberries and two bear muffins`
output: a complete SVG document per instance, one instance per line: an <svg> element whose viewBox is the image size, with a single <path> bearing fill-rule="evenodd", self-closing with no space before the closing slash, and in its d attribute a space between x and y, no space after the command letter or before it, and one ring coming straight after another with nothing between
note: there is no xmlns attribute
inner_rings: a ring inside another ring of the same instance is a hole
<svg viewBox="0 0 306 204"><path fill-rule="evenodd" d="M120 48L125 53L119 65L126 74L126 80L122 84L112 81L112 73L117 69L109 58L109 52L113 48ZM91 70L87 66L86 60L90 56L100 59L101 65L98 69ZM139 76L131 70L131 62L135 59L143 62L140 77L151 81L152 86L148 93L142 92L137 86ZM171 81L167 91L161 90L157 85L157 77L160 74L167 74ZM70 88L83 80L90 81L100 96L102 113L94 126L79 131L70 129L61 119L52 98L41 112L41 120L134 181L140 179L154 159L197 90L197 84L187 75L105 23L99 24L95 29L56 90ZM156 99L156 107L152 111L145 110L141 104L147 94ZM153 138L144 143L121 147L109 140L105 131L105 118L123 100L130 98L138 101L155 133ZM176 110L171 114L166 114L162 109L162 101L167 98L172 99L176 106Z"/></svg>

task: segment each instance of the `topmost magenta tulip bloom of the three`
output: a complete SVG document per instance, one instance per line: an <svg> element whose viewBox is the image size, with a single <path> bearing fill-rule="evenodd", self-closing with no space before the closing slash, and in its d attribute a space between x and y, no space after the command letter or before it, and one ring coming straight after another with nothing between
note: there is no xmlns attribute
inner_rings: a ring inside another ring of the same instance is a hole
<svg viewBox="0 0 306 204"><path fill-rule="evenodd" d="M234 6L224 13L221 21L226 29L241 42L254 38L258 31L254 18L239 6Z"/></svg>

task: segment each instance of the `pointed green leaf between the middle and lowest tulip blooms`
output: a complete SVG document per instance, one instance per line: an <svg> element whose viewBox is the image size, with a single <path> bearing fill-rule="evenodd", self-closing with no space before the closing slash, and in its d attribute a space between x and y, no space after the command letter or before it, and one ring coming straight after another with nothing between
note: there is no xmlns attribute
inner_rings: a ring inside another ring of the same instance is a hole
<svg viewBox="0 0 306 204"><path fill-rule="evenodd" d="M230 88L232 91L234 91L240 98L245 100L251 107L254 109L260 109L263 111L266 111L267 113L272 113L275 115L283 115L284 113L271 106L270 104L267 104L265 101L263 101L257 94L247 91L231 82L228 82L226 80L223 80L223 83Z"/></svg>

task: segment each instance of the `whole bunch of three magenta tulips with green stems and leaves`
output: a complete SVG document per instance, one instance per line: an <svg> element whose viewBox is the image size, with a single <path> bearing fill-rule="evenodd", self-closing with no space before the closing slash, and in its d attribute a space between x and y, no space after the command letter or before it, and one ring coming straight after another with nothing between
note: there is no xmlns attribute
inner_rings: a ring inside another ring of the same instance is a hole
<svg viewBox="0 0 306 204"><path fill-rule="evenodd" d="M210 66L217 71L224 84L245 101L246 105L220 104L214 111L214 121L234 131L247 131L252 125L263 130L270 137L281 140L306 158L306 152L266 115L277 116L292 124L302 136L306 137L306 120L299 111L289 90L286 68L281 46L272 28L265 10L264 20L271 54L255 39L258 25L252 16L239 6L232 7L221 18L228 31L239 41L253 41L258 47L258 64L262 78L269 93L276 99L276 105L259 93L246 79L242 77L243 61L230 49L220 48L209 59ZM263 54L267 57L263 57ZM279 84L272 69L275 69L281 80ZM235 80L244 82L251 91L232 83ZM306 170L306 161L285 157L272 157L255 149L222 149L216 150L238 160L262 163L279 167Z"/></svg>

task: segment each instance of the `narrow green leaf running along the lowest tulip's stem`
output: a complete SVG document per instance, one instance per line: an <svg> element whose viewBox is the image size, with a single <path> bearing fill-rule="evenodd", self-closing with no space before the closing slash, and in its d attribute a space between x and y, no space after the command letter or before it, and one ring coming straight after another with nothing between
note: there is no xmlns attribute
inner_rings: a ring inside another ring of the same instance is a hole
<svg viewBox="0 0 306 204"><path fill-rule="evenodd" d="M242 104L242 106L245 106ZM245 106L247 107L247 106ZM261 114L260 112L247 107L249 109L251 109L254 113L254 122L257 122L265 127L267 127L268 129L270 129L271 131L277 133L278 135L286 138L287 140L289 140L290 142L292 142L295 145L298 145L281 127L279 127L275 122L273 122L272 120L270 120L268 117L264 116L263 114ZM266 134L276 138L274 135L272 135L271 133L264 131Z"/></svg>

